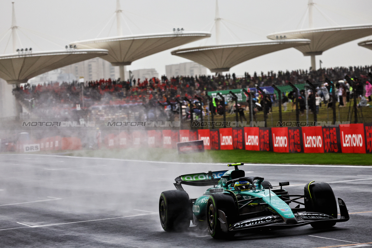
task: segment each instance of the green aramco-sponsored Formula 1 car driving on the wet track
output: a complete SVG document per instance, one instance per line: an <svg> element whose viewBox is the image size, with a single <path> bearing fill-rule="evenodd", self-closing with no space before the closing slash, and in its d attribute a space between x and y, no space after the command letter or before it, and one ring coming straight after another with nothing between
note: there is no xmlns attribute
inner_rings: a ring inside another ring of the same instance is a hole
<svg viewBox="0 0 372 248"><path fill-rule="evenodd" d="M349 220L344 201L336 200L327 183L305 185L304 194L289 194L280 182L272 186L263 177L246 177L238 169L244 163L228 164L234 170L209 171L181 175L175 179L176 190L163 191L159 200L160 223L165 231L184 230L190 227L206 229L216 239L232 238L237 232L253 229L280 229L311 225L313 228L330 228L337 222ZM236 189L235 182L247 183L249 189ZM205 193L190 199L182 185L213 186ZM303 203L299 200L303 199ZM296 203L292 207L289 204ZM337 203L340 218L337 218ZM302 205L303 207L300 207Z"/></svg>

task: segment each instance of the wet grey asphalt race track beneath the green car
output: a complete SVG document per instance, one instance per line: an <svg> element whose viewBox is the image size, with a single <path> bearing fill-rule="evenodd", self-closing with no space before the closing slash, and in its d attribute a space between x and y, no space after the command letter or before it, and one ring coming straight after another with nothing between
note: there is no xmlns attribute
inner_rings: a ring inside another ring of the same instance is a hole
<svg viewBox="0 0 372 248"><path fill-rule="evenodd" d="M160 226L161 191L180 174L225 165L0 155L0 247L360 247L372 245L372 167L247 165L246 175L272 184L329 182L350 220L317 231L294 229L237 235L218 241L205 232L167 233ZM190 197L204 188L185 186ZM363 213L364 212L364 213ZM370 243L370 244L357 244ZM346 245L346 246L345 246Z"/></svg>

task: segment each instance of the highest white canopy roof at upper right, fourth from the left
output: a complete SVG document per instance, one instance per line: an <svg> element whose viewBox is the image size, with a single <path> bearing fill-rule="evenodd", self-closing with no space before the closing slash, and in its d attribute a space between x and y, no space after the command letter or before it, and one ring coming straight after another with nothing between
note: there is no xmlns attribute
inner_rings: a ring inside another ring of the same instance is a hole
<svg viewBox="0 0 372 248"><path fill-rule="evenodd" d="M330 48L369 35L372 35L372 24L292 30L272 33L267 35L267 38L273 40L310 39L311 44L296 47L305 56L308 56L321 55Z"/></svg>

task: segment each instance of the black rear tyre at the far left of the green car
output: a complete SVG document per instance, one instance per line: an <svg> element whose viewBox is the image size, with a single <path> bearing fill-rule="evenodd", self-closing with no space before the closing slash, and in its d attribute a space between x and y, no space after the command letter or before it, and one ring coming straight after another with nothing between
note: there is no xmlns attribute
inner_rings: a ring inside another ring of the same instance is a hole
<svg viewBox="0 0 372 248"><path fill-rule="evenodd" d="M163 191L159 199L159 216L164 231L183 231L189 228L192 203L186 191Z"/></svg>

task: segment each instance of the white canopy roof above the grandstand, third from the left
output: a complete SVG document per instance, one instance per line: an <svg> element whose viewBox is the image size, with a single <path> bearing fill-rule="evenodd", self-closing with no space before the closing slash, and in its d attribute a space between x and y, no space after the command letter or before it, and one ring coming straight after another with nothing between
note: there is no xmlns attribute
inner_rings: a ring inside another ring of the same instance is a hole
<svg viewBox="0 0 372 248"><path fill-rule="evenodd" d="M310 44L308 39L254 41L214 46L199 46L172 51L172 55L195 61L211 72L228 71L234 65L270 52Z"/></svg>

